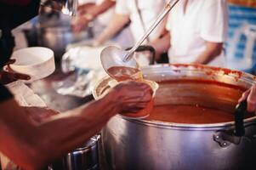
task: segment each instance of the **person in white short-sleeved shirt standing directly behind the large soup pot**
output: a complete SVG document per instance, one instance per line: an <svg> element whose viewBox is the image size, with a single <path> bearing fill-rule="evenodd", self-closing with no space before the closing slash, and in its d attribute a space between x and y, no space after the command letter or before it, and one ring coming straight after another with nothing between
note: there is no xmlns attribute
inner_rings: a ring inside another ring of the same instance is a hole
<svg viewBox="0 0 256 170"><path fill-rule="evenodd" d="M164 37L151 45L168 50L170 63L224 66L226 0L184 0L170 12Z"/></svg>

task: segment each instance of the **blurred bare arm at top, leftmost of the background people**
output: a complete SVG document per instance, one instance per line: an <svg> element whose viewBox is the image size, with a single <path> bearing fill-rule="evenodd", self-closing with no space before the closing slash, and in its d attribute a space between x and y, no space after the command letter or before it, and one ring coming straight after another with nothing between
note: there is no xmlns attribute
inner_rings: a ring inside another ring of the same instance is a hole
<svg viewBox="0 0 256 170"><path fill-rule="evenodd" d="M82 31L83 28L88 26L88 23L96 19L100 14L105 13L109 8L115 5L115 1L105 0L99 5L82 5L80 13L72 20L72 30L75 32Z"/></svg>

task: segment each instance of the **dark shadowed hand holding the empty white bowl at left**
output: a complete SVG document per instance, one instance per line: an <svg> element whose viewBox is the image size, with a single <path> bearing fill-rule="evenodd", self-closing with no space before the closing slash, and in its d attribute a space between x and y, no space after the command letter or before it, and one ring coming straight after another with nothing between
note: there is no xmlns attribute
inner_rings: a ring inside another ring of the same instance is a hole
<svg viewBox="0 0 256 170"><path fill-rule="evenodd" d="M10 82L15 82L17 80L30 80L31 77L26 74L21 74L14 72L9 65L14 64L15 59L10 59L9 62L6 64L6 71L0 72L0 82L2 84L8 84Z"/></svg>

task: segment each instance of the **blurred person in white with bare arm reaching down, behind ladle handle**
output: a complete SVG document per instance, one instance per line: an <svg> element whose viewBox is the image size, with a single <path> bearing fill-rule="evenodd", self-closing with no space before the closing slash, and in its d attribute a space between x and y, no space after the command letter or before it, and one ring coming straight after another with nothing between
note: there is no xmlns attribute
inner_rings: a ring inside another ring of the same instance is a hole
<svg viewBox="0 0 256 170"><path fill-rule="evenodd" d="M165 0L117 0L116 14L110 21L109 26L97 38L95 44L101 44L113 37L123 26L128 24L129 20L131 21L130 28L134 41L138 41L152 22L156 20L164 5ZM159 37L163 27L163 24L158 26L147 41L151 42L151 40Z"/></svg>

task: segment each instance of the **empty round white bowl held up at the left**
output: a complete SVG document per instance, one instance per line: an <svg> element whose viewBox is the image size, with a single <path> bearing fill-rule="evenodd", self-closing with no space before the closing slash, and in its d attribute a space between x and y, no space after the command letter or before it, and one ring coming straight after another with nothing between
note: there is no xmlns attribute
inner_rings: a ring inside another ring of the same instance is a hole
<svg viewBox="0 0 256 170"><path fill-rule="evenodd" d="M16 59L10 68L19 73L29 75L33 82L48 77L55 70L54 52L49 48L34 47L22 48L14 51L11 59Z"/></svg>

